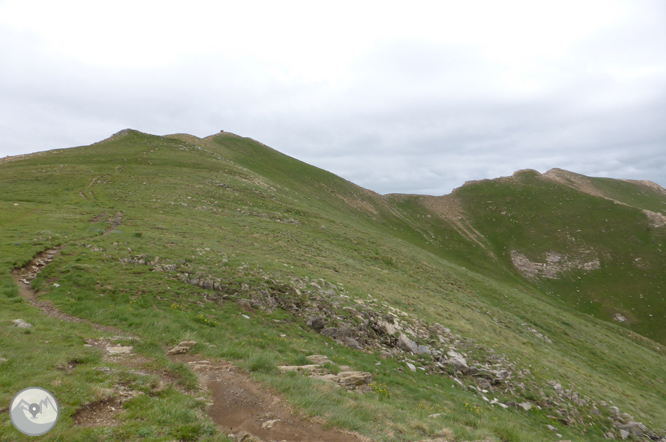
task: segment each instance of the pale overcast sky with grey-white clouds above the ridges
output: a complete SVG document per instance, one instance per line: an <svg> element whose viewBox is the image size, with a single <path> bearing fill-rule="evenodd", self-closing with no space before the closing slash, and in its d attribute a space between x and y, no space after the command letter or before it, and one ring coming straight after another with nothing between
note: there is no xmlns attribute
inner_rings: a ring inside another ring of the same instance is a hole
<svg viewBox="0 0 666 442"><path fill-rule="evenodd" d="M666 2L0 0L0 157L128 127L380 193L553 167L666 187Z"/></svg>

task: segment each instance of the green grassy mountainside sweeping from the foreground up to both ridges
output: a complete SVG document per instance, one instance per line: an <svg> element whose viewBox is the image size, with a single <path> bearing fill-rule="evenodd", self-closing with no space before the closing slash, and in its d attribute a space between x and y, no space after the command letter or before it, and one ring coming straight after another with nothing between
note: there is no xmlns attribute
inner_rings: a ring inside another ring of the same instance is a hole
<svg viewBox="0 0 666 442"><path fill-rule="evenodd" d="M658 231L632 207L529 173L517 181L466 186L444 205L383 197L233 134L123 131L0 163L0 439L22 440L6 407L39 385L62 407L44 440L226 440L206 406L210 391L165 355L185 339L303 416L376 441L596 441L620 435L613 405L644 435L666 435L664 347L572 305L581 288L634 290L615 274L634 253L654 263L644 278L661 284ZM516 272L511 250L532 261L568 253L566 233L592 245L613 284L594 271L561 280ZM631 248L627 235L637 238ZM89 322L59 321L19 295L12 270L56 247L31 286ZM193 283L204 280L218 288ZM317 316L323 330L308 325ZM17 318L33 327L14 327ZM401 349L387 323L430 353ZM641 323L631 327L660 338ZM345 328L356 345L318 332ZM101 341L131 344L137 367L90 344ZM469 370L457 371L450 352ZM277 368L314 354L333 361L331 374L349 366L372 384L332 388ZM126 391L136 395L120 401ZM81 424L82 410L110 400L123 410L113 425Z"/></svg>

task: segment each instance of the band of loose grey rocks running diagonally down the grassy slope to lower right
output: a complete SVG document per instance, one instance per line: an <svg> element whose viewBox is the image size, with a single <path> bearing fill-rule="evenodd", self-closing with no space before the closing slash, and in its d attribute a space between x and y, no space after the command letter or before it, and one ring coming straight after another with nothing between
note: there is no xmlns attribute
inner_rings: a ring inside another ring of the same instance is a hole
<svg viewBox="0 0 666 442"><path fill-rule="evenodd" d="M572 262L582 263L580 265L583 269L594 269L600 265L596 257L588 259L593 252L586 253L587 258L578 261L549 253L546 256L547 271L544 273L544 267L541 266L542 270L535 270L534 275L556 275L563 268L571 268L568 266ZM589 423L588 415L603 413L603 410L599 411L602 409L599 402L582 397L571 389L567 390L558 382L551 384L551 393L547 394L528 368L518 368L518 363L509 361L492 349L482 348L474 339L463 338L441 324L428 323L413 312L402 311L371 295L355 298L343 287L322 279L292 277L288 282L276 281L274 276L262 273L261 270L250 270L247 265L238 268L239 275L251 274L256 277L255 280L265 282L257 283L256 286L229 283L224 286L224 295L218 295L215 293L215 283L223 284L224 281L211 274L182 273L186 268L184 264L181 273L168 276L165 273L165 276L201 288L202 296L207 301L235 301L244 310L271 312L282 309L290 312L309 330L329 338L332 342L328 341L327 344L332 350L336 349L336 345L341 345L359 351L377 352L383 358L399 361L401 364L395 368L397 371L413 373L414 376L423 373L450 377L454 387L475 391L489 406L513 407L520 412L533 412L538 407L564 425ZM210 287L206 281L213 283L212 290L206 288ZM527 323L522 326L526 327L523 329L526 333L538 339L535 339L537 345L552 343L543 331ZM372 380L371 373L356 372L344 366L339 367L341 371L335 373L333 367L327 365L332 364L331 360L322 355L312 355L308 361L310 364L278 368L283 372L295 371L344 388L371 391L368 385ZM532 394L527 395L527 392ZM513 400L505 399L502 403L499 400L501 397ZM636 437L633 434L640 430L643 435L648 434L638 424L633 419L618 420L617 426L606 427L604 433L614 437L621 437L625 433L627 437Z"/></svg>

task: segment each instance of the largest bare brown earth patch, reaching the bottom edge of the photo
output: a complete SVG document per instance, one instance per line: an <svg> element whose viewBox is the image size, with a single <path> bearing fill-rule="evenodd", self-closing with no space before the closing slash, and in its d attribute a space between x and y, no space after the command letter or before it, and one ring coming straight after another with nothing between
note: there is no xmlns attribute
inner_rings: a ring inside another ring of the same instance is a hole
<svg viewBox="0 0 666 442"><path fill-rule="evenodd" d="M370 441L349 432L325 430L321 423L297 416L277 394L229 362L203 360L196 355L172 359L187 363L198 375L201 387L212 393L208 415L227 434L245 431L265 441Z"/></svg>

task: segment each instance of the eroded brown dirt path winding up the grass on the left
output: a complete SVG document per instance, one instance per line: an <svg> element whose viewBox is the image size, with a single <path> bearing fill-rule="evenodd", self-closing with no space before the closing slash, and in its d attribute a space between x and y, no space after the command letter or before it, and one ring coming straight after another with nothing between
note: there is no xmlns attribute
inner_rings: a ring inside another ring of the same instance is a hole
<svg viewBox="0 0 666 442"><path fill-rule="evenodd" d="M117 224L114 223L115 225L112 228L120 224L122 213L116 214L116 219L118 222ZM115 339L132 339L131 336L120 329L95 324L86 319L68 315L58 310L50 302L38 299L39 293L32 290L30 281L53 260L61 248L40 253L23 268L12 272L20 295L45 315L67 322L88 324L96 330L118 335L115 336ZM110 338L110 340L88 340L86 345L105 349L107 355L104 360L107 362L120 363L135 370L144 370L146 363L149 361L140 355L134 354L131 350L128 350L127 354L109 353L113 350L110 349L110 347L113 347L111 342L113 340L114 338ZM212 404L207 409L208 416L223 434L234 434L237 440L253 440L247 439L249 435L266 442L371 442L370 439L357 434L339 430L325 430L322 423L308 421L297 416L293 413L292 408L276 393L252 380L248 374L242 372L230 362L207 360L198 355L190 354L171 356L171 359L174 362L187 364L197 374L200 389L208 390L212 394ZM100 367L99 369L102 371L111 370L107 367ZM145 374L159 375L162 379L162 385L171 384L175 386L177 383L177 380L166 372L150 371ZM182 391L180 388L179 390ZM196 391L185 393L197 394ZM75 422L80 426L107 427L119 425L115 417L117 413L122 411L122 403L134 396L135 392L114 390L112 396L84 405L76 412Z"/></svg>

